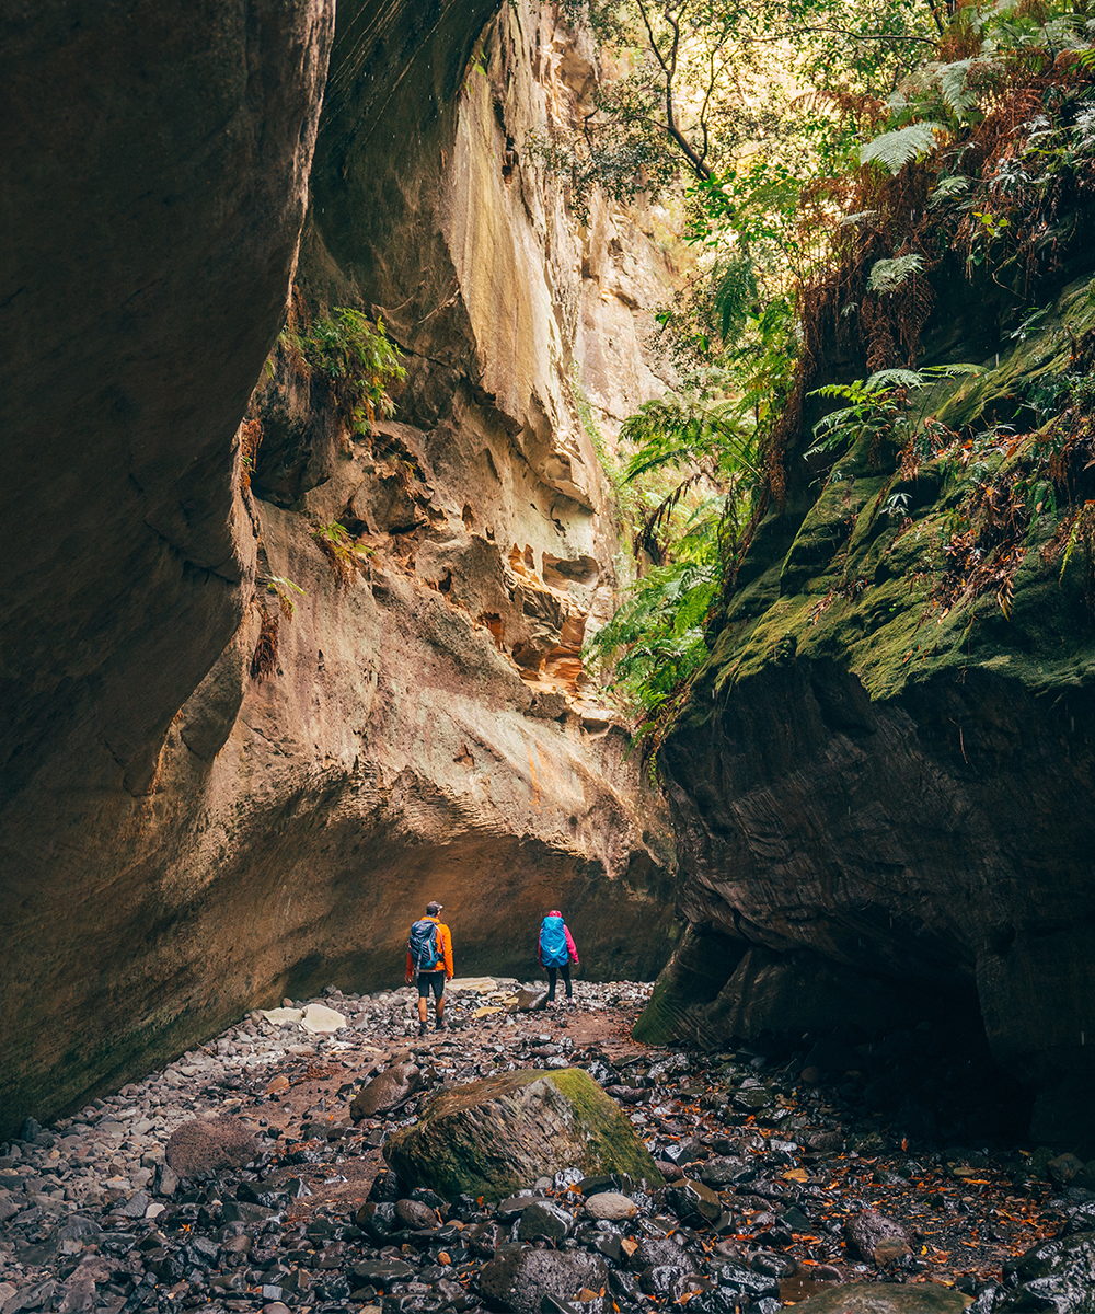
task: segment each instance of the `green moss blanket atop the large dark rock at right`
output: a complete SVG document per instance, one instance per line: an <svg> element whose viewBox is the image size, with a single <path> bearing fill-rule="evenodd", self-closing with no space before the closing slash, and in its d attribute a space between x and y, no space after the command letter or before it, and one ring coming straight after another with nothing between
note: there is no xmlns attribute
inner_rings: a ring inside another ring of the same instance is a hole
<svg viewBox="0 0 1095 1314"><path fill-rule="evenodd" d="M985 373L940 386L932 398L936 417L969 434L978 424L1013 422L1040 440L1066 389L1065 376L1075 369L1074 344L1095 328L1092 293L1095 284L1087 280L1069 285L1037 331L1008 339L1008 350ZM837 459L804 516L769 518L758 535L761 569L745 572L748 582L732 599L682 725L689 716L710 715L705 687L718 694L791 657L840 662L873 699L978 665L1006 671L1033 692L1090 678L1091 568L1073 560L1062 572L1060 560L1042 560L1060 523L1050 485L1037 482L1045 460L1028 440L1008 457L989 452L979 465L948 469L925 461L915 478L902 480L893 451L861 440ZM1031 503L1045 503L1021 543L1010 615L994 593L948 610L937 600L944 544L961 527L977 480L1010 476L1033 489ZM894 494L902 494L907 514L897 514ZM781 535L790 544L777 560L773 547Z"/></svg>

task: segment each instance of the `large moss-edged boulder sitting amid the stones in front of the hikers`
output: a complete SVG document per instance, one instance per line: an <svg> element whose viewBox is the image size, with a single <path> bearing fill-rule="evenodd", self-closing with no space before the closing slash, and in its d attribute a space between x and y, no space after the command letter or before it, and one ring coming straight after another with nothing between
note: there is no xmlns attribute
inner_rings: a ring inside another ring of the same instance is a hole
<svg viewBox="0 0 1095 1314"><path fill-rule="evenodd" d="M384 1158L404 1181L448 1198L498 1201L564 1168L664 1185L631 1122L581 1068L506 1072L442 1091L413 1127L388 1137Z"/></svg>

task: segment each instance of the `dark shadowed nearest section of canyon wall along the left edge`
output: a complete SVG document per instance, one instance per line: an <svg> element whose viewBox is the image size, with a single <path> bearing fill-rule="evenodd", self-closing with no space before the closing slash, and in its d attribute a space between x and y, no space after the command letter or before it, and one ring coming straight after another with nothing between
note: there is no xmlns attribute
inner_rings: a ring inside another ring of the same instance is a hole
<svg viewBox="0 0 1095 1314"><path fill-rule="evenodd" d="M233 434L296 260L333 21L331 0L3 20L5 1129L189 1007L131 988L172 908L146 791L252 591Z"/></svg>

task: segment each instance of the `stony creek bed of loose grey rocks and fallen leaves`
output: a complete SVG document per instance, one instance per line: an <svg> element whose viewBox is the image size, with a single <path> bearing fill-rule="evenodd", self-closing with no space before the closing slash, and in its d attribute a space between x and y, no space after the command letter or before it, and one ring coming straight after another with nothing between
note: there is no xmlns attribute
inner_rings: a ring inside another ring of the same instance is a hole
<svg viewBox="0 0 1095 1314"><path fill-rule="evenodd" d="M630 1039L648 992L578 982L572 1007L521 1012L535 988L482 979L419 1037L410 989L329 988L50 1127L28 1120L0 1146L0 1314L776 1314L849 1281L949 1289L974 1314L1095 1310L1095 1164L1021 1143L1021 1101L973 1041L651 1050ZM385 1133L431 1089L532 1067L584 1067L668 1185L569 1171L528 1183L530 1212L386 1171ZM212 1117L206 1143L188 1125Z"/></svg>

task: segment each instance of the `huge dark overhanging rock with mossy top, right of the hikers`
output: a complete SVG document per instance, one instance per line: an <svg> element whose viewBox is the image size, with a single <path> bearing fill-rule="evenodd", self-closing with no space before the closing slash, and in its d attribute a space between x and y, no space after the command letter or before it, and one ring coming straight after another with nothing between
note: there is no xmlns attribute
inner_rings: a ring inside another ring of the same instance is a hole
<svg viewBox="0 0 1095 1314"><path fill-rule="evenodd" d="M1037 1138L1095 1151L1067 1097L1095 1079L1091 535L1062 551L1066 515L1095 505L1095 283L1048 290L979 374L933 389L919 466L864 435L819 480L799 435L660 752L678 908L707 953L686 938L636 1034L816 1029L828 991L758 992L735 946L808 951L837 1004L858 974L975 999L998 1060L1038 1091Z"/></svg>

